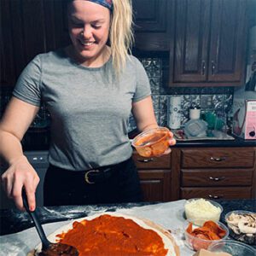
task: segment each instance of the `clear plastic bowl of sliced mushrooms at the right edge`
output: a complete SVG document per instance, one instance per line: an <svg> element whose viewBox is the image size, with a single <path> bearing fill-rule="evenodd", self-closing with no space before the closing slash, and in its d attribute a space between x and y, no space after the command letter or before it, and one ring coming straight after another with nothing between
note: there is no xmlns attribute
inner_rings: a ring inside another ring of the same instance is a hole
<svg viewBox="0 0 256 256"><path fill-rule="evenodd" d="M228 212L224 217L225 222L228 228L230 229L230 236L232 238L234 238L237 241L242 241L250 245L256 245L256 232L254 231L253 233L249 233L249 232L246 232L247 230L243 232L243 230L241 230L242 223L238 224L239 220L237 220L235 223L234 222L231 223L229 220L229 217L232 213L236 215L253 214L255 216L254 219L256 219L256 213L248 212L248 211L232 211L232 212Z"/></svg>

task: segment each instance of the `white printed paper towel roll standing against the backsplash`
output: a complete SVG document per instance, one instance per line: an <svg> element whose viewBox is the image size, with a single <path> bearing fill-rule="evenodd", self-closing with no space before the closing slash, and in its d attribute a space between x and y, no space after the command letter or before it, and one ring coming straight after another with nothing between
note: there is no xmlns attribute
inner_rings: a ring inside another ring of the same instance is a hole
<svg viewBox="0 0 256 256"><path fill-rule="evenodd" d="M171 129L179 129L181 125L181 96L168 97L167 125Z"/></svg>

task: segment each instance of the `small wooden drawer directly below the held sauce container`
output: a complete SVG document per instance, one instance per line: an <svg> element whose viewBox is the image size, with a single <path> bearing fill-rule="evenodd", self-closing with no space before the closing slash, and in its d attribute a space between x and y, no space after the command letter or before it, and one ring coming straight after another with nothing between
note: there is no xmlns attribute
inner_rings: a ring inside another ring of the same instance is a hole
<svg viewBox="0 0 256 256"><path fill-rule="evenodd" d="M145 158L134 152L132 158L135 161L137 169L170 169L171 154L165 154L160 157Z"/></svg>

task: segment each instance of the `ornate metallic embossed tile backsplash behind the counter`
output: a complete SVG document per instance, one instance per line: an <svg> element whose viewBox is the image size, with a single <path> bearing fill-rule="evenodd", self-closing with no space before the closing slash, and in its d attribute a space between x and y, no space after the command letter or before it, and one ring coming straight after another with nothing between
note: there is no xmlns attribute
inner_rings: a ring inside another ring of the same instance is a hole
<svg viewBox="0 0 256 256"><path fill-rule="evenodd" d="M227 125L231 123L231 111L233 103L233 87L172 87L164 84L165 74L168 70L168 58L153 57L139 58L143 63L150 82L154 113L159 125L167 126L168 97L181 96L181 126L189 120L189 108L200 106L201 113L224 113ZM136 128L135 120L131 114L129 119L129 131Z"/></svg>

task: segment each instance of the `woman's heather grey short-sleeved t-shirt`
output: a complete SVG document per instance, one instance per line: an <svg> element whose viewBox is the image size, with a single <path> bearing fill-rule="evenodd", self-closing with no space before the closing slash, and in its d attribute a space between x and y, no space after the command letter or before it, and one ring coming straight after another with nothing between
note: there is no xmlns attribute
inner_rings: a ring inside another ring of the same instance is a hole
<svg viewBox="0 0 256 256"><path fill-rule="evenodd" d="M32 105L45 103L51 116L49 162L73 171L129 159L131 103L150 94L147 74L136 57L114 79L111 58L102 67L84 67L63 49L37 55L13 92Z"/></svg>

